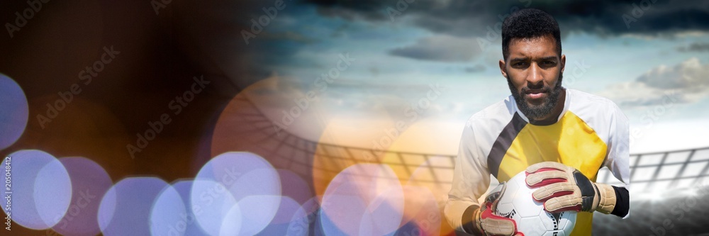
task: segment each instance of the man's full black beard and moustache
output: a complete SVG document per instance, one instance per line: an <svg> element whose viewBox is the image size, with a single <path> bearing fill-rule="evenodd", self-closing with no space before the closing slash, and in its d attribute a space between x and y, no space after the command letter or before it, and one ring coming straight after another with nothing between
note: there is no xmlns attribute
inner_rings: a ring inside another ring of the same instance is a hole
<svg viewBox="0 0 709 236"><path fill-rule="evenodd" d="M549 96L547 96L544 101L542 101L542 103L539 105L532 105L524 99L525 92L530 90L528 85L523 87L522 91L518 91L518 89L515 88L515 86L512 84L509 75L507 76L507 84L508 86L510 86L510 92L512 92L512 96L513 98L515 98L515 103L517 103L517 107L520 109L520 111L530 120L539 120L540 118L551 114L552 111L554 111L554 107L557 106L557 103L559 102L559 95L562 92L563 77L564 75L562 74L562 72L559 72L559 79L557 80L557 84L554 85L553 89L549 86L543 86L542 88L534 88L543 89L544 92L549 94Z"/></svg>

